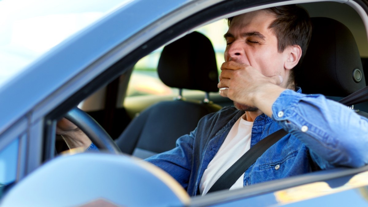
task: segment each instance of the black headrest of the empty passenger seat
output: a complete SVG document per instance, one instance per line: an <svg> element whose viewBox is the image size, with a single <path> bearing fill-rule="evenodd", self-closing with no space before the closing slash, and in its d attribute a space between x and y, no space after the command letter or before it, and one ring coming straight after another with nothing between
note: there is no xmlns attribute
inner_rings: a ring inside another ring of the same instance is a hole
<svg viewBox="0 0 368 207"><path fill-rule="evenodd" d="M157 70L169 87L219 91L215 52L210 40L201 33L192 32L166 45Z"/></svg>

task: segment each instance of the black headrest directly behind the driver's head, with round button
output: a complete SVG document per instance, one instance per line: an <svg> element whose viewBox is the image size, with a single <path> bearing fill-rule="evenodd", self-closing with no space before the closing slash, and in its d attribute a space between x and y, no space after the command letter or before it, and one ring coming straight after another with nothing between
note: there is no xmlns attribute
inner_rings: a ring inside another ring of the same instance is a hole
<svg viewBox="0 0 368 207"><path fill-rule="evenodd" d="M357 43L342 23L325 17L312 20L312 38L296 82L305 94L345 97L365 87Z"/></svg>

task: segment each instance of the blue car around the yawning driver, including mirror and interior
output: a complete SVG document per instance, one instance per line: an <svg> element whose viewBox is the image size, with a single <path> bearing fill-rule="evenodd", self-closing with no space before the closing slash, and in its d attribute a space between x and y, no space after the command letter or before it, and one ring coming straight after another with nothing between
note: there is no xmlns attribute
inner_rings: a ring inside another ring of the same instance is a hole
<svg viewBox="0 0 368 207"><path fill-rule="evenodd" d="M233 104L217 88L226 18L286 4L314 23L303 92L364 88L367 0L0 0L0 206L367 206L368 166L190 197L142 160ZM99 151L69 150L63 117Z"/></svg>

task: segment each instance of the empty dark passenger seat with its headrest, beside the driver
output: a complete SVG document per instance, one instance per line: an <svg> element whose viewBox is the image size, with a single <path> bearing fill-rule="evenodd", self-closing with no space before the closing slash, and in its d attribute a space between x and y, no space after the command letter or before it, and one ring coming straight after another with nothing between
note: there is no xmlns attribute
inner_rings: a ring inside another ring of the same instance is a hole
<svg viewBox="0 0 368 207"><path fill-rule="evenodd" d="M209 92L219 90L218 72L212 43L201 33L192 32L165 46L158 74L164 84L179 89L178 98L145 109L116 139L122 152L139 158L171 150L202 116L221 109L209 101ZM203 101L185 100L183 89L204 91Z"/></svg>

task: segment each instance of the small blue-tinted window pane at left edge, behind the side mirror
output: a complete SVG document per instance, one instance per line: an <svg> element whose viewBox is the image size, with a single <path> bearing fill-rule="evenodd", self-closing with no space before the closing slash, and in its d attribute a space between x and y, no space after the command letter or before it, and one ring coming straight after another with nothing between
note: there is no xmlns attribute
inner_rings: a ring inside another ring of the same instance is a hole
<svg viewBox="0 0 368 207"><path fill-rule="evenodd" d="M0 197L17 177L18 145L16 139L0 151Z"/></svg>

